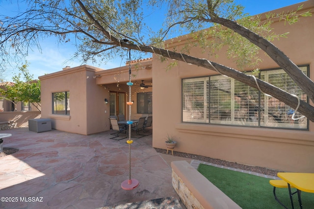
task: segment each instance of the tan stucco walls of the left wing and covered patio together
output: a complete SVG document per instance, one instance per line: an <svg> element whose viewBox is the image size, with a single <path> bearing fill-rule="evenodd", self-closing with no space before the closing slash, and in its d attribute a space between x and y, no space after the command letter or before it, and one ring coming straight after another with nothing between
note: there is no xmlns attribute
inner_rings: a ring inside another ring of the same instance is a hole
<svg viewBox="0 0 314 209"><path fill-rule="evenodd" d="M144 60L144 63L131 63L131 79L152 80L152 60ZM79 66L39 77L41 81L42 118L52 119L52 128L89 135L107 131L109 123L109 103L105 104L105 98L109 100L110 92L125 92L126 101L129 101L129 66L104 70L92 66ZM134 82L134 81L133 81ZM118 85L119 84L119 85ZM132 87L136 88L135 86ZM52 114L52 93L70 92L70 116ZM151 92L152 87L145 89ZM131 112L136 117L137 95L132 93ZM126 118L129 118L128 105L125 104Z"/></svg>

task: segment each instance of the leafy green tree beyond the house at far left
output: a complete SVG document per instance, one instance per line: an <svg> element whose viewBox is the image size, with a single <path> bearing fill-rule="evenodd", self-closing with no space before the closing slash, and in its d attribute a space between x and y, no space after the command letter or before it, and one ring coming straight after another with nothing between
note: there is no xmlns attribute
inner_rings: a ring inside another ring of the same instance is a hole
<svg viewBox="0 0 314 209"><path fill-rule="evenodd" d="M17 111L19 102L29 102L38 110L40 107L40 81L33 80L27 67L26 62L19 68L20 72L12 77L12 81L15 83L13 86L5 85L4 89L0 89L0 97L11 101L15 111Z"/></svg>

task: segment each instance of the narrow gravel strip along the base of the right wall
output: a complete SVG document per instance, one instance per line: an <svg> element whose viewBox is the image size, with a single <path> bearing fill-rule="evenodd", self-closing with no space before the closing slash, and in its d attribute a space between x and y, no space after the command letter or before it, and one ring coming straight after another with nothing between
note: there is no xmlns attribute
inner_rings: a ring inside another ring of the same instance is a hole
<svg viewBox="0 0 314 209"><path fill-rule="evenodd" d="M155 150L158 153L163 153L163 154L166 154L166 152L167 152L167 150L165 150L165 149L155 148ZM279 171L279 170L273 170L273 169L263 168L263 167L259 167L259 166L250 166L250 165L244 165L244 164L239 164L239 163L233 163L233 162L228 162L228 161L223 161L223 160L219 160L219 159L213 159L213 158L209 158L209 157L204 157L204 156L200 156L200 155L193 155L193 154L188 154L188 153L183 153L183 152L173 151L173 155L178 156L178 157L208 162L208 163L214 163L214 164L218 164L218 165L224 165L227 167L233 167L233 168L237 168L237 169L241 169L241 170L247 170L247 171L252 171L252 172L256 172L256 173L262 173L262 174L269 175L269 176L277 176L278 172L283 172L283 171Z"/></svg>

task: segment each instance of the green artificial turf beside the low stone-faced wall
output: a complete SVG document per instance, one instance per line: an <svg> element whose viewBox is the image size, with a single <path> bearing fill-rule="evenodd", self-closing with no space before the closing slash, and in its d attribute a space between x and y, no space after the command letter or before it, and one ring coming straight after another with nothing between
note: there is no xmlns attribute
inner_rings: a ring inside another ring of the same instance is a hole
<svg viewBox="0 0 314 209"><path fill-rule="evenodd" d="M197 170L242 209L284 209L274 198L271 179L205 164ZM288 188L276 188L276 195L291 208ZM314 208L314 193L301 192L301 199L303 209ZM293 203L295 209L300 208L297 194L293 195Z"/></svg>

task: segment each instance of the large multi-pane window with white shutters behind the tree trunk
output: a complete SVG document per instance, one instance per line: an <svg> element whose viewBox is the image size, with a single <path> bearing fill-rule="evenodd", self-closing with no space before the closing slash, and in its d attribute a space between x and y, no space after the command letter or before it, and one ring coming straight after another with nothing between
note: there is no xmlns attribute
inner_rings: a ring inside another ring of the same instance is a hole
<svg viewBox="0 0 314 209"><path fill-rule="evenodd" d="M300 69L308 73L308 66ZM306 94L282 69L263 70L256 77L307 101ZM308 129L307 118L291 119L293 108L233 78L214 75L187 78L182 83L183 122Z"/></svg>

